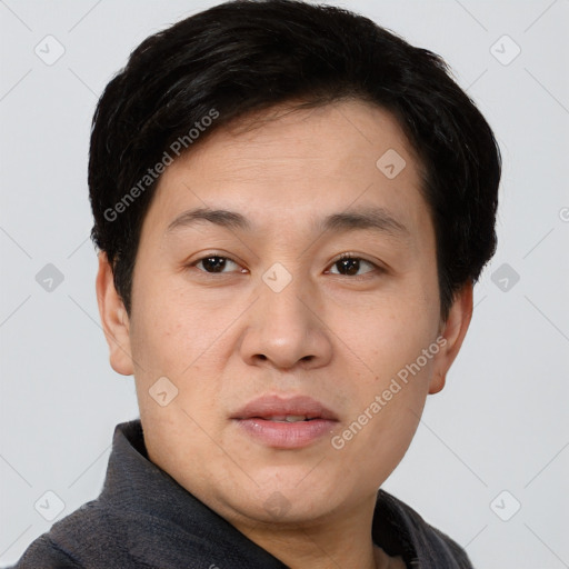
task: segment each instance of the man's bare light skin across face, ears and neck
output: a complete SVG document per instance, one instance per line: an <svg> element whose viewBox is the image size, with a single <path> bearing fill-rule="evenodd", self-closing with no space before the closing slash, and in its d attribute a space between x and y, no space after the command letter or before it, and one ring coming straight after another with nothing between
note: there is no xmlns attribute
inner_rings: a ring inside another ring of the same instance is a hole
<svg viewBox="0 0 569 569"><path fill-rule="evenodd" d="M130 316L99 254L110 363L134 375L152 462L286 565L403 567L371 541L377 490L407 451L427 395L445 386L472 286L441 321L420 163L390 113L358 100L276 110L253 129L213 132L162 174L142 227ZM388 149L407 162L393 179L376 166ZM167 231L204 206L240 212L256 230L203 221ZM358 206L389 210L408 232L312 228ZM346 252L383 270L360 261L356 276L342 272L336 261ZM199 260L213 253L234 262L207 272ZM280 292L262 280L276 262L292 277ZM438 353L335 449L332 435L438 338ZM163 376L179 390L166 407L149 395ZM264 393L310 396L339 423L308 447L267 448L230 420ZM274 492L284 505L277 513L266 507Z"/></svg>

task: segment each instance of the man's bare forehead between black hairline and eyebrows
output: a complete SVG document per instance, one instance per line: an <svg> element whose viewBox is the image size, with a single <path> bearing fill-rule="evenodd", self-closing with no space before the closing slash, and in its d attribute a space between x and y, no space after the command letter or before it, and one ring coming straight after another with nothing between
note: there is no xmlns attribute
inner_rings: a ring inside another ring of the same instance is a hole
<svg viewBox="0 0 569 569"><path fill-rule="evenodd" d="M278 107L218 128L174 160L146 222L166 233L186 210L209 208L295 227L377 206L412 226L426 210L419 188L420 163L391 113L361 101Z"/></svg>

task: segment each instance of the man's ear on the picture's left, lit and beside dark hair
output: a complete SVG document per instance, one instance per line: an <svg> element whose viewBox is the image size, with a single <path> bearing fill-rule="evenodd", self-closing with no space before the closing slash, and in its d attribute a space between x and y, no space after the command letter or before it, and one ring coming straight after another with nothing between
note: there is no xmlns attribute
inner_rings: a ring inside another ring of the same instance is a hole
<svg viewBox="0 0 569 569"><path fill-rule="evenodd" d="M102 329L109 345L111 367L117 373L132 376L134 370L130 348L129 317L122 299L114 289L112 269L104 251L99 252L96 288Z"/></svg>

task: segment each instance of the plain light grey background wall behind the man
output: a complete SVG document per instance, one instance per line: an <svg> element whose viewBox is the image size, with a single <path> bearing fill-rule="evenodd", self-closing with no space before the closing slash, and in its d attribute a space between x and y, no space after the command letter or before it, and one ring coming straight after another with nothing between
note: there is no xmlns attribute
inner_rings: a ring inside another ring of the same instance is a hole
<svg viewBox="0 0 569 569"><path fill-rule="evenodd" d="M34 509L46 491L64 503L56 519L98 496L114 426L138 417L96 303L87 157L97 98L142 39L214 3L0 0L0 565L50 528ZM440 53L505 160L499 248L469 333L383 487L477 568L569 567L569 1L329 3ZM64 47L51 66L34 52L57 54L48 34ZM51 292L36 280L47 263L63 274Z"/></svg>

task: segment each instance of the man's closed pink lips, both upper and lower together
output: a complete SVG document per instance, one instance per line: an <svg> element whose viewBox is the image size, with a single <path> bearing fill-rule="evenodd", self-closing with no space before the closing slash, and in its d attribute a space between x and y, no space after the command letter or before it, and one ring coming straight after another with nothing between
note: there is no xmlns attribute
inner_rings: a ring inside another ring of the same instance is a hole
<svg viewBox="0 0 569 569"><path fill-rule="evenodd" d="M306 416L308 421L278 422L270 417ZM307 447L330 433L338 417L320 401L306 396L263 396L247 403L231 419L263 446L278 449Z"/></svg>

